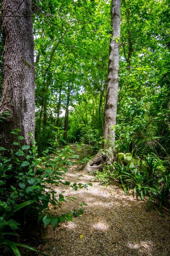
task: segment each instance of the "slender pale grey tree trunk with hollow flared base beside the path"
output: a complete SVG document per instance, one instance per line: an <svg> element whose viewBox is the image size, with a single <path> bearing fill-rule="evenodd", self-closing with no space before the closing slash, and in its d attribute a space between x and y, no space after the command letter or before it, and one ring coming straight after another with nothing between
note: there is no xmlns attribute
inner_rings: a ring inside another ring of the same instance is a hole
<svg viewBox="0 0 170 256"><path fill-rule="evenodd" d="M120 41L120 8L121 0L112 0L111 26L113 29L108 62L108 84L105 104L103 128L103 148L110 150L106 156L100 152L87 164L84 171L94 172L101 169L102 164L112 163L114 158L115 126L117 114L117 95L119 85L119 41Z"/></svg>

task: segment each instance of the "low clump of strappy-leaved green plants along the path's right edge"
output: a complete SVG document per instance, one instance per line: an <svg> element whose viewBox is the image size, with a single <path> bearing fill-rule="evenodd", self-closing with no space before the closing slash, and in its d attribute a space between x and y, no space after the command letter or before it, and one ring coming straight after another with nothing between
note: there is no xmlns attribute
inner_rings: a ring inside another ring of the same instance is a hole
<svg viewBox="0 0 170 256"><path fill-rule="evenodd" d="M139 195L142 200L147 198L147 207L151 209L154 204L161 215L162 206L170 210L170 165L167 160L149 156L134 159L130 153L119 153L117 157L117 162L106 166L97 177L106 184L119 182L127 195L133 189L134 195Z"/></svg>

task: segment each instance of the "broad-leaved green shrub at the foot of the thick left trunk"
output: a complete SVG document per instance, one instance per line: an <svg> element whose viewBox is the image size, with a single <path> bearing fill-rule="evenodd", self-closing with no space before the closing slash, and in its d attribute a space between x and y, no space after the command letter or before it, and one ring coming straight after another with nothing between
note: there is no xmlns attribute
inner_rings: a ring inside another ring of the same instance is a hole
<svg viewBox="0 0 170 256"><path fill-rule="evenodd" d="M69 159L72 158L74 152L69 146L55 149L55 143L50 143L51 146L42 151L43 156L38 157L34 140L31 146L20 145L23 137L19 135L19 132L19 129L11 132L18 138L18 141L13 143L16 151L11 149L11 157L0 156L0 232L2 234L0 246L3 251L3 246L6 244L15 255L20 255L17 246L31 249L8 238L13 234L11 230L20 228L18 221L22 222L23 214L25 218L31 214L37 218L37 221L43 221L45 226L51 223L53 227L59 222L72 220L73 215L70 213L62 216L49 216L46 212L49 204L57 206L70 199L65 198L61 193L57 194L52 187L63 183L77 191L77 189L87 189L91 186L91 183L70 183L64 179L63 175L68 172L67 166L72 165ZM6 151L2 147L1 150ZM16 212L17 215L15 215Z"/></svg>

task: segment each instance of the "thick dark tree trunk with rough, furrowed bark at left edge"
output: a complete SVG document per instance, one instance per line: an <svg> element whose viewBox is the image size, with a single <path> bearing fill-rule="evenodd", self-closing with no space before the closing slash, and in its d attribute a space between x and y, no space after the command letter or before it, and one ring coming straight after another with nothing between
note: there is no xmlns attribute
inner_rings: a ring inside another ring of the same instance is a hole
<svg viewBox="0 0 170 256"><path fill-rule="evenodd" d="M34 37L31 0L3 0L4 80L0 113L11 116L0 122L1 145L12 148L16 138L11 130L19 128L29 144L34 134ZM10 11L11 10L11 11ZM14 17L13 17L14 15Z"/></svg>

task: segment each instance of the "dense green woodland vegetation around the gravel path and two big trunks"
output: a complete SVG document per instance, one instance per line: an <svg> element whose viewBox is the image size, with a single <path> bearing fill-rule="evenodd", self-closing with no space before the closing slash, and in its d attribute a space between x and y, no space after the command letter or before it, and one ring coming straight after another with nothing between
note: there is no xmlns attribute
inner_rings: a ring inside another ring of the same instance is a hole
<svg viewBox="0 0 170 256"><path fill-rule="evenodd" d="M170 3L122 0L121 36L114 38L119 44L116 135L114 148L106 149L110 10L107 0L32 1L36 142L31 133L25 142L18 123L10 131L11 149L0 147L0 253L6 244L15 255L20 255L17 246L27 247L9 237L17 236L11 230L26 225L28 212L55 227L83 211L63 216L45 212L49 204L65 200L52 185L63 182L75 190L91 186L62 180L76 157L69 143L90 145L82 163L98 151L107 155L112 150L113 162L106 161L97 177L106 184L119 182L127 194L133 189L161 215L170 210ZM0 52L3 44L0 35ZM2 73L0 58L1 82ZM8 109L0 112L0 124L11 115Z"/></svg>

